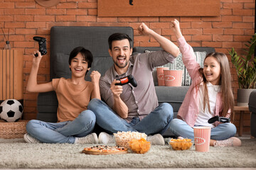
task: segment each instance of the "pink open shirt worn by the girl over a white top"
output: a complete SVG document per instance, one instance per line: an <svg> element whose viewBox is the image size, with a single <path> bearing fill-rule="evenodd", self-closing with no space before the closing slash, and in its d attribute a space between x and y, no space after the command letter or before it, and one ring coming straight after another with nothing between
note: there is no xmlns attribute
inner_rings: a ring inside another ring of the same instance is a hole
<svg viewBox="0 0 256 170"><path fill-rule="evenodd" d="M178 118L184 120L188 125L193 127L196 123L196 118L199 114L199 96L198 96L198 87L193 88L196 84L202 84L202 75L198 71L200 65L196 62L196 56L193 52L193 48L188 45L184 37L178 38L177 40L179 49L181 50L183 64L188 70L188 74L191 76L191 86L186 93L183 103L178 110ZM223 110L221 93L217 94L216 106L215 106L215 115L220 115L220 112ZM228 117L230 113L228 114ZM217 126L219 123L215 122Z"/></svg>

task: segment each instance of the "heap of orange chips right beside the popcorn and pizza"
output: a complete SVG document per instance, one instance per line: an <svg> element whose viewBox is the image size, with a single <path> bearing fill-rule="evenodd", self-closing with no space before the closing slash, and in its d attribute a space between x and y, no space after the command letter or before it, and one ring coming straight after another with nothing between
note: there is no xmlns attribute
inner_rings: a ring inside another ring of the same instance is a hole
<svg viewBox="0 0 256 170"><path fill-rule="evenodd" d="M130 149L137 154L144 154L150 149L150 142L146 141L144 138L140 140L131 140L128 143Z"/></svg>

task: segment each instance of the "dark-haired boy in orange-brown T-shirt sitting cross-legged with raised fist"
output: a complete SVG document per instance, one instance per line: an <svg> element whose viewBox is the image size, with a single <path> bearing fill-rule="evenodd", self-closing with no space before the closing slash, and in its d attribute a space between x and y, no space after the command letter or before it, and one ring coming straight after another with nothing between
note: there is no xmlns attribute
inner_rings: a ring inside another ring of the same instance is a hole
<svg viewBox="0 0 256 170"><path fill-rule="evenodd" d="M35 57L35 54L38 57ZM26 125L28 143L97 143L95 114L87 110L90 98L100 99L100 73L92 71L92 82L85 81L85 75L92 66L92 53L84 47L75 47L68 60L71 79L53 79L45 84L37 83L37 73L42 55L34 52L33 66L26 90L29 92L55 91L58 98L58 123L30 120Z"/></svg>

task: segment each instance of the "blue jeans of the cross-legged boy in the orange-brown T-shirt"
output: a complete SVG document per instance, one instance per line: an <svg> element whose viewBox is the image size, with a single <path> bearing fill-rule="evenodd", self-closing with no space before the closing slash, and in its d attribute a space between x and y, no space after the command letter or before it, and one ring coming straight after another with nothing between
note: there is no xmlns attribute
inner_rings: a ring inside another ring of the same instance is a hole
<svg viewBox="0 0 256 170"><path fill-rule="evenodd" d="M73 121L46 123L41 120L30 120L26 125L29 135L44 143L70 143L75 137L85 137L95 127L96 117L92 111L82 111Z"/></svg>

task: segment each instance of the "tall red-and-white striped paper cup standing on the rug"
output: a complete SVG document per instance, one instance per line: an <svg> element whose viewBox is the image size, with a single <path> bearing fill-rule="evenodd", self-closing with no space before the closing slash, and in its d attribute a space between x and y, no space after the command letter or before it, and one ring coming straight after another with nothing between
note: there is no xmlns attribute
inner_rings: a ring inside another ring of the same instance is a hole
<svg viewBox="0 0 256 170"><path fill-rule="evenodd" d="M210 149L210 127L194 127L194 142L196 151L208 152Z"/></svg>

